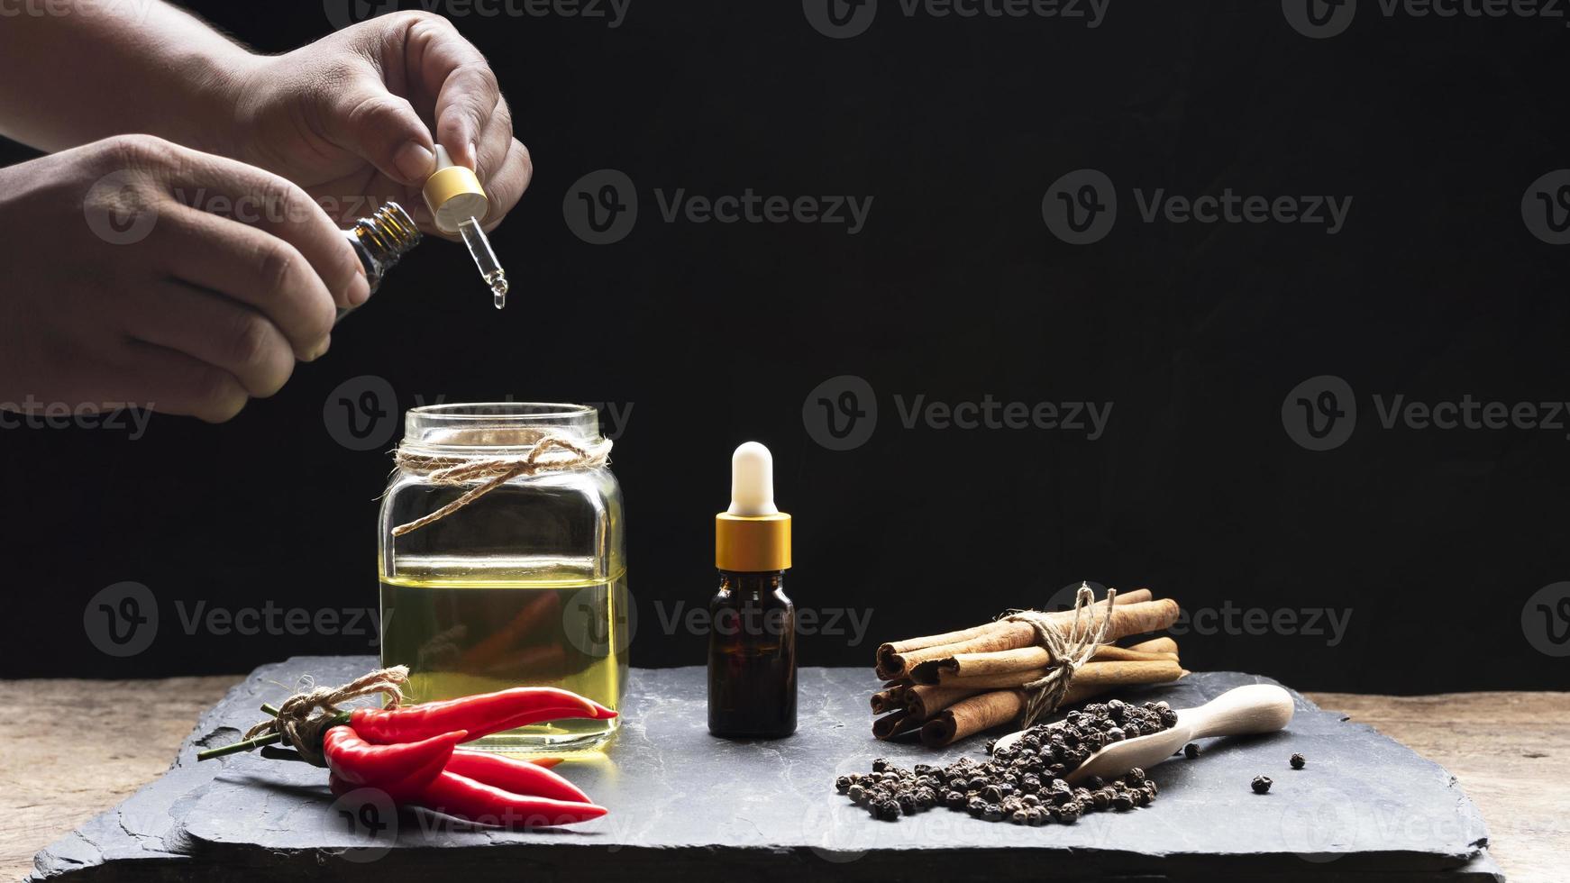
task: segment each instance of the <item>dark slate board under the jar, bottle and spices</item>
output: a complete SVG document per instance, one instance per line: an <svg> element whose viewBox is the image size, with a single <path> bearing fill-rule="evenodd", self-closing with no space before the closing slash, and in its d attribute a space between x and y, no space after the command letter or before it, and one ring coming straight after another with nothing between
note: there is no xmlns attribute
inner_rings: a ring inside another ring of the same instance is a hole
<svg viewBox="0 0 1570 883"><path fill-rule="evenodd" d="M257 754L195 762L199 748L236 740L262 701L279 701L300 678L345 682L374 662L303 657L259 668L198 721L163 778L41 852L33 878L1502 880L1482 819L1449 773L1295 693L1286 732L1212 740L1196 761L1151 770L1160 797L1149 808L1072 827L994 825L947 809L870 819L834 792L835 775L865 772L876 756L909 765L978 754L983 739L942 753L874 742L867 695L876 684L849 668L801 671L801 729L777 742L713 739L700 668L634 670L609 758L560 767L611 816L564 830L506 833L366 811L334 803L323 770ZM1127 696L1187 707L1258 682L1272 681L1196 673ZM1287 767L1294 751L1309 758L1306 770ZM1269 795L1248 787L1261 773L1276 781Z"/></svg>

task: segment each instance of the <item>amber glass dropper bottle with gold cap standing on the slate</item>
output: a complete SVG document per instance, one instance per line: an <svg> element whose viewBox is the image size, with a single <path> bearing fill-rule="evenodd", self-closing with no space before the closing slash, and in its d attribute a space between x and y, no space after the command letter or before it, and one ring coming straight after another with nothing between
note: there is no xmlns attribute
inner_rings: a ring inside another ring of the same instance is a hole
<svg viewBox="0 0 1570 883"><path fill-rule="evenodd" d="M746 442L730 458L730 508L714 516L719 591L710 601L708 731L796 732L796 605L785 596L790 516L774 505L774 458Z"/></svg>

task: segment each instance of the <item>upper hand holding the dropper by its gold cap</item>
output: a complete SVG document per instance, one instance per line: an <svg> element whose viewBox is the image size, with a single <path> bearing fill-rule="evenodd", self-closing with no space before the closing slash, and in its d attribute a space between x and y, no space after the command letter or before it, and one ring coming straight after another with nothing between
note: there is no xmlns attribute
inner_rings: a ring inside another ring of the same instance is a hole
<svg viewBox="0 0 1570 883"><path fill-rule="evenodd" d="M435 168L432 132L484 182L487 231L534 173L485 56L429 13L378 16L286 55L251 56L225 88L237 113L226 152L294 180L341 223L397 199L438 232L419 194Z"/></svg>

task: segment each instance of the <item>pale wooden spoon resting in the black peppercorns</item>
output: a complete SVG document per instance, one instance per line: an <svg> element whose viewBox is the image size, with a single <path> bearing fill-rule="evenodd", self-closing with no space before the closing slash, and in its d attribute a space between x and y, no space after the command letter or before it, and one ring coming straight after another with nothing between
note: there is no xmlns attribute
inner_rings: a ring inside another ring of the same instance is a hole
<svg viewBox="0 0 1570 883"><path fill-rule="evenodd" d="M1063 778L1080 784L1090 776L1118 778L1134 767L1151 769L1176 754L1184 745L1207 736L1253 736L1275 732L1292 721L1292 695L1273 684L1250 684L1236 687L1195 709L1181 709L1171 729L1124 739L1104 747ZM1060 728L1064 721L1049 725ZM1006 748L1019 740L1024 731L1011 732L997 740L997 748Z"/></svg>

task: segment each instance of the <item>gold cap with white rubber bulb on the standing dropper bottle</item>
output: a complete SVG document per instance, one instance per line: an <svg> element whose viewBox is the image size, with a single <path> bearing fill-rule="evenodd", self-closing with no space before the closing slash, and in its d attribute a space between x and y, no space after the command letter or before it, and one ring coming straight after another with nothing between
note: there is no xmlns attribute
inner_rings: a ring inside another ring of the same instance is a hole
<svg viewBox="0 0 1570 883"><path fill-rule="evenodd" d="M790 569L790 516L774 505L774 456L746 442L730 456L730 508L714 516L714 566L733 572Z"/></svg>

